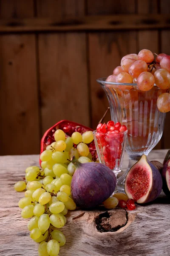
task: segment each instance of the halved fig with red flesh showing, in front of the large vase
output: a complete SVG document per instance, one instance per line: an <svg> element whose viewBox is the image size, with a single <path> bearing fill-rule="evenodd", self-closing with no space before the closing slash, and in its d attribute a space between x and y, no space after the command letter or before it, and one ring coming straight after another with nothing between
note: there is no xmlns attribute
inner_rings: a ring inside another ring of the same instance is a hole
<svg viewBox="0 0 170 256"><path fill-rule="evenodd" d="M139 204L155 200L162 189L161 174L143 154L129 170L125 180L125 193Z"/></svg>

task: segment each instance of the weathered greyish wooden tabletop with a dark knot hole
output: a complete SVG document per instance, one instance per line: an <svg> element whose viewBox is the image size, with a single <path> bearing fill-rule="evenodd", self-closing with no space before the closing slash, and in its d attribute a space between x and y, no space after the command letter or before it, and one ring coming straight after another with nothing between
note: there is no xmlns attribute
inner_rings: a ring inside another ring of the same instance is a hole
<svg viewBox="0 0 170 256"><path fill-rule="evenodd" d="M152 151L148 158L162 162L166 152ZM13 188L14 183L24 177L26 167L38 162L38 155L0 157L0 256L38 256L38 244L32 241L27 230L28 220L21 218L17 206L24 193ZM127 162L125 155L124 168ZM113 215L121 216L117 218L118 223L126 221L126 224L116 232L107 233L97 231L94 222L104 209L71 212L62 228L67 242L59 256L169 256L169 204L162 192L153 204L137 206L134 211L113 209ZM79 218L75 218L77 216Z"/></svg>

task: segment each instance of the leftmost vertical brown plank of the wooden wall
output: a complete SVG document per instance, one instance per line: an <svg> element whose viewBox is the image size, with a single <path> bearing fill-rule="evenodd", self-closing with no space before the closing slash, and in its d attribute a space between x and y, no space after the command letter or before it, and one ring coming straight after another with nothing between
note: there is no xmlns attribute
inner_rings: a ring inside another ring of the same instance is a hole
<svg viewBox="0 0 170 256"><path fill-rule="evenodd" d="M0 6L0 17L34 16L33 1L26 0L25 8L21 0ZM37 93L35 36L0 35L0 154L39 151Z"/></svg>

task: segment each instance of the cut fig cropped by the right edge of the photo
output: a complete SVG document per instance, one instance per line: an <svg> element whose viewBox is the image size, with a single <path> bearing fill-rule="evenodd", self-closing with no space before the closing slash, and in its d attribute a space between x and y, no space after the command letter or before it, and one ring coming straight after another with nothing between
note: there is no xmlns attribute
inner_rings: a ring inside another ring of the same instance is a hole
<svg viewBox="0 0 170 256"><path fill-rule="evenodd" d="M163 191L165 195L170 197L170 160L168 160L162 169L161 172L162 180L163 180Z"/></svg>

